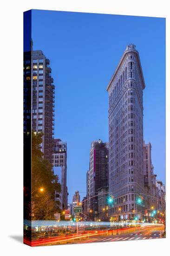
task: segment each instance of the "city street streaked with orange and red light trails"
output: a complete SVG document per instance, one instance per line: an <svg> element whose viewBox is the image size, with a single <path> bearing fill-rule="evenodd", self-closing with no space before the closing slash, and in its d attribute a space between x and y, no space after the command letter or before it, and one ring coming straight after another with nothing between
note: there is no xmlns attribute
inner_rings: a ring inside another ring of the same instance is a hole
<svg viewBox="0 0 170 256"><path fill-rule="evenodd" d="M141 225L132 228L80 231L78 234L51 236L34 239L32 246L76 243L99 243L116 241L135 241L163 238L164 225ZM29 243L28 241L25 241Z"/></svg>

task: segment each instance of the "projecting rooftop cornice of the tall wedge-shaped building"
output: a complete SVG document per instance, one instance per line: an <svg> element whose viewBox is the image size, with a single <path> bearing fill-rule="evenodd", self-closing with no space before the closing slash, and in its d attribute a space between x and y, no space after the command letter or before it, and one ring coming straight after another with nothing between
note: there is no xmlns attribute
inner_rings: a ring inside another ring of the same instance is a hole
<svg viewBox="0 0 170 256"><path fill-rule="evenodd" d="M116 67L115 69L115 72L113 73L112 77L111 77L111 80L109 81L109 84L106 88L106 90L108 91L111 87L111 84L112 82L114 81L114 79L116 78L116 75L118 74L118 71L119 71L119 68L121 67L121 65L123 64L125 58L127 57L128 54L130 53L133 53L136 55L137 57L137 64L139 66L139 71L140 71L140 74L141 74L141 78L142 78L142 83L143 83L143 89L145 88L145 82L144 82L144 75L143 75L143 72L142 72L142 67L141 67L141 62L140 62L140 57L139 57L139 53L136 49L134 48L130 48L130 49L127 49L124 51L119 63L118 63L118 66Z"/></svg>

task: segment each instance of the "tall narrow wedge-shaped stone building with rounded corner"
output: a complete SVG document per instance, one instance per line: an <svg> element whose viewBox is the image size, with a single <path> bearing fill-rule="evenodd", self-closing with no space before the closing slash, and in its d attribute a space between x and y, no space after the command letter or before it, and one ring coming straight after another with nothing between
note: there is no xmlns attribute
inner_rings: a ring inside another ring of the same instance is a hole
<svg viewBox="0 0 170 256"><path fill-rule="evenodd" d="M137 197L144 193L143 90L144 76L134 44L126 47L107 86L109 94L109 192L115 220L143 216Z"/></svg>

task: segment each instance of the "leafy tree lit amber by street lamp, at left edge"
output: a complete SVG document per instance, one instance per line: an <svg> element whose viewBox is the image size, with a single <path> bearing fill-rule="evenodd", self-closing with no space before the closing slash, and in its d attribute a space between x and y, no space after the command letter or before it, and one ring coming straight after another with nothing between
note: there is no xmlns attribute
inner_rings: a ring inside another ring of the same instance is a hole
<svg viewBox="0 0 170 256"><path fill-rule="evenodd" d="M54 175L52 164L40 150L43 134L32 132L32 213L33 219L54 219L59 205L54 201L54 191L61 191L58 175ZM42 189L42 192L40 191Z"/></svg>

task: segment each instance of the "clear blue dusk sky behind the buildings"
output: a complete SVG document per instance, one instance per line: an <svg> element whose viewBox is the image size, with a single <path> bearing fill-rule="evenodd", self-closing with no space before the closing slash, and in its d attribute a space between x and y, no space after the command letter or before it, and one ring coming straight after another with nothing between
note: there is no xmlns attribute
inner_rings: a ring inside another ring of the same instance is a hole
<svg viewBox="0 0 170 256"><path fill-rule="evenodd" d="M144 141L165 183L165 19L32 11L33 50L50 59L55 84L55 138L67 142L68 202L86 195L91 142L108 141L106 87L126 45L139 52L144 89Z"/></svg>

